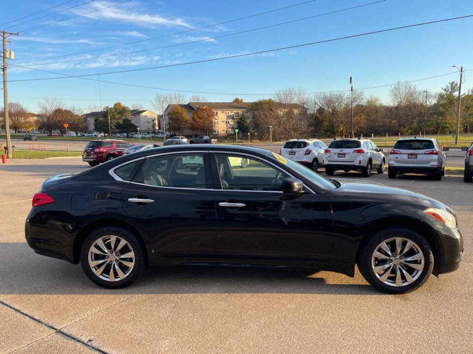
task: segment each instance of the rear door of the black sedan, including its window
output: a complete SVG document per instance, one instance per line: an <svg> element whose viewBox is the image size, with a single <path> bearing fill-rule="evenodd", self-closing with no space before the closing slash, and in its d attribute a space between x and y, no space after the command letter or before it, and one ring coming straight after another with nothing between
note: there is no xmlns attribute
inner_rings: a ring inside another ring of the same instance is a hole
<svg viewBox="0 0 473 354"><path fill-rule="evenodd" d="M156 256L214 253L216 214L207 152L144 158L121 198Z"/></svg>

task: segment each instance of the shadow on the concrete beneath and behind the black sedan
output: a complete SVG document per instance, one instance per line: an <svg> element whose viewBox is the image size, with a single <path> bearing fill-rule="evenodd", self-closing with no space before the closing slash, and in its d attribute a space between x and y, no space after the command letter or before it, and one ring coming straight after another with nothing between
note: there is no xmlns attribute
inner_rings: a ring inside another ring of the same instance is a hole
<svg viewBox="0 0 473 354"><path fill-rule="evenodd" d="M383 295L357 273L259 267L150 267L132 286L107 290L80 265L37 255L26 243L0 243L0 295L39 294L343 294Z"/></svg>

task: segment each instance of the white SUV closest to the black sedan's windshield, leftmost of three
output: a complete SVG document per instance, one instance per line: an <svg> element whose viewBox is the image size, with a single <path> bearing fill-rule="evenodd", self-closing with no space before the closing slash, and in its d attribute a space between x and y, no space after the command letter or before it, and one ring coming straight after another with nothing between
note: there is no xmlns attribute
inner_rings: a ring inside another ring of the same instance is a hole
<svg viewBox="0 0 473 354"><path fill-rule="evenodd" d="M317 172L327 145L317 139L291 139L281 148L281 155Z"/></svg>

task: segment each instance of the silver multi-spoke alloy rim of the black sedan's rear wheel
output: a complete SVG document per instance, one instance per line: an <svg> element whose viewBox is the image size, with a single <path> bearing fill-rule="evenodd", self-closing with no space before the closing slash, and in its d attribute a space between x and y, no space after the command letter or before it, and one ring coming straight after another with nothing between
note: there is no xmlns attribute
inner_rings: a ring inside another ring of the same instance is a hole
<svg viewBox="0 0 473 354"><path fill-rule="evenodd" d="M101 236L90 246L88 254L94 274L109 282L125 279L135 266L132 246L119 236Z"/></svg>

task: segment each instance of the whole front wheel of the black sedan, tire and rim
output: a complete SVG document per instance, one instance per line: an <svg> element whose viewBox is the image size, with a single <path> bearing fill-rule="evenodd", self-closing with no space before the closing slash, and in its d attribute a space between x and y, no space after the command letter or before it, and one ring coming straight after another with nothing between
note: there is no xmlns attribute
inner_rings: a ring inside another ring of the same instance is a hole
<svg viewBox="0 0 473 354"><path fill-rule="evenodd" d="M376 233L365 244L358 267L374 288L404 294L427 281L434 256L429 243L416 231L389 228Z"/></svg>

